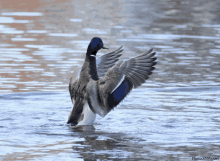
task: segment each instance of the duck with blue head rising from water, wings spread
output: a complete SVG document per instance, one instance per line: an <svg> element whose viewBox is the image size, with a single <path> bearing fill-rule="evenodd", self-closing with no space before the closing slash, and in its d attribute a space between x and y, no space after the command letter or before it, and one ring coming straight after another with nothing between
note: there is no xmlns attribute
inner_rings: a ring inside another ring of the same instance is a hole
<svg viewBox="0 0 220 161"><path fill-rule="evenodd" d="M67 124L71 126L93 125L97 114L105 117L132 89L146 82L157 64L153 49L119 61L123 51L121 46L96 61L100 49L108 48L101 38L94 37L88 45L79 78L75 81L70 78L73 108Z"/></svg>

